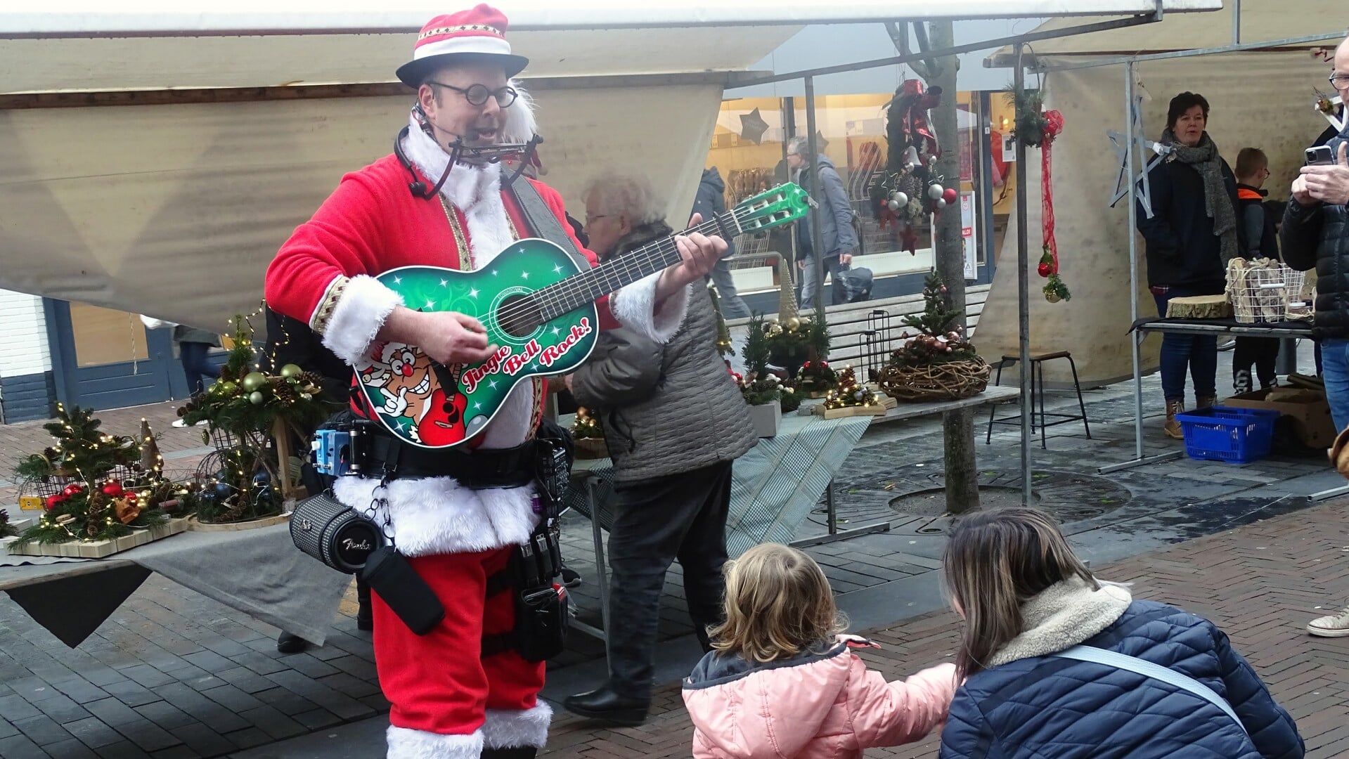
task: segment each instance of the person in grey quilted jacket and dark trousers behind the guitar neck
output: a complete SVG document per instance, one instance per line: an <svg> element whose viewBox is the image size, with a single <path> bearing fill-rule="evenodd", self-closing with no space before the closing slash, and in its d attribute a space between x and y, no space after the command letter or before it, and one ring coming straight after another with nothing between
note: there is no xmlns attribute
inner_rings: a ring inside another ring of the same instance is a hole
<svg viewBox="0 0 1349 759"><path fill-rule="evenodd" d="M645 179L608 177L585 198L591 249L604 260L670 233ZM716 353L716 315L706 287L664 345L630 329L600 334L591 359L565 379L596 410L614 460L608 534L608 679L568 697L567 710L612 724L646 720L661 588L684 569L688 612L704 650L720 621L731 464L755 442L749 407Z"/></svg>

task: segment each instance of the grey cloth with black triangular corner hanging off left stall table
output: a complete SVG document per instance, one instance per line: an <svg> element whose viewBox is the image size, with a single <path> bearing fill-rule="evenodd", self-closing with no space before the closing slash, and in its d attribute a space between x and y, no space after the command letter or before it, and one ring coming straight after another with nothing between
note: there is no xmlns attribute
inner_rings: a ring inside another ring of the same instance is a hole
<svg viewBox="0 0 1349 759"><path fill-rule="evenodd" d="M96 564L107 569L90 572ZM314 644L322 644L351 585L351 576L295 549L289 524L179 533L101 559L0 554L0 588L70 647L151 572Z"/></svg>

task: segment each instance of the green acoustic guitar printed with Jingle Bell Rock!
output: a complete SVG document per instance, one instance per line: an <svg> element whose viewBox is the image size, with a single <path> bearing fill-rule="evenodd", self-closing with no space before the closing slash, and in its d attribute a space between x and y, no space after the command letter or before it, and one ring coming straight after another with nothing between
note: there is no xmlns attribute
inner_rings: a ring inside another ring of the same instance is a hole
<svg viewBox="0 0 1349 759"><path fill-rule="evenodd" d="M716 214L689 232L730 240L795 221L809 197L786 183ZM413 266L378 279L409 309L459 311L487 328L496 353L479 364L444 367L413 345L376 344L357 365L357 386L372 417L399 439L449 448L480 433L518 383L571 372L599 336L595 301L679 263L673 237L591 267L548 240L514 243L476 271Z"/></svg>

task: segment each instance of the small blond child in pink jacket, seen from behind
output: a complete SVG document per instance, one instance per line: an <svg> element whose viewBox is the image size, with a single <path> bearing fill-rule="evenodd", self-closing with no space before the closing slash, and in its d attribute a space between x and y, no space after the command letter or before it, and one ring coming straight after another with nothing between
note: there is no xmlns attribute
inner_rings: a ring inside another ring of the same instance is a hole
<svg viewBox="0 0 1349 759"><path fill-rule="evenodd" d="M726 621L684 679L697 759L861 759L946 720L955 665L898 682L851 651L820 566L778 543L727 565Z"/></svg>

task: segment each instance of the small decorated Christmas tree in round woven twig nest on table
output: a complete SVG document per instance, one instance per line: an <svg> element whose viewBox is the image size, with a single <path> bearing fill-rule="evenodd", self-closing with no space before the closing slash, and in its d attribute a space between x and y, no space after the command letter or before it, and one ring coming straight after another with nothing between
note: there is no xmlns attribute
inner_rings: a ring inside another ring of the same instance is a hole
<svg viewBox="0 0 1349 759"><path fill-rule="evenodd" d="M921 314L904 318L905 342L890 355L877 383L886 395L911 403L955 400L983 392L989 386L989 364L959 326L963 311L947 303L946 284L932 271L923 284Z"/></svg>

